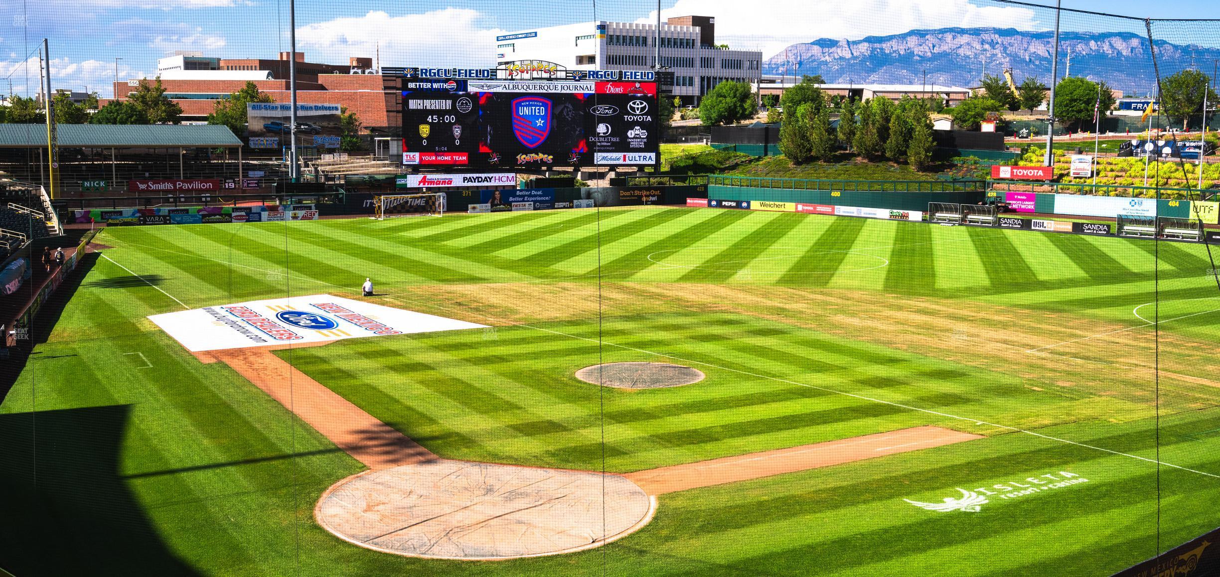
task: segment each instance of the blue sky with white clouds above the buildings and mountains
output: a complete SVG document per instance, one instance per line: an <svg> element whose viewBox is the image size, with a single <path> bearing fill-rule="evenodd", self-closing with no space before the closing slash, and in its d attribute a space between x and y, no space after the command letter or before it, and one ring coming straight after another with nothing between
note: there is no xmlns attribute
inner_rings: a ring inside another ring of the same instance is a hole
<svg viewBox="0 0 1220 577"><path fill-rule="evenodd" d="M6 0L0 17L0 91L37 90L37 54L50 38L56 88L110 94L115 59L120 79L156 70L172 50L221 57L274 57L288 50L287 0ZM311 61L342 63L373 56L403 65L490 65L494 37L592 20L653 21L655 1L599 0L299 0L298 45ZM664 16L715 16L717 39L762 50L815 38L863 38L913 28L1003 26L1047 29L1053 11L993 0L772 0L767 7L743 0L664 0ZM1220 2L1204 0L1065 0L1064 7L1158 18L1220 18ZM1142 22L1065 15L1065 29L1143 32ZM1220 45L1220 22L1158 24L1176 41ZM590 30L592 32L592 30ZM28 88L27 88L27 78Z"/></svg>

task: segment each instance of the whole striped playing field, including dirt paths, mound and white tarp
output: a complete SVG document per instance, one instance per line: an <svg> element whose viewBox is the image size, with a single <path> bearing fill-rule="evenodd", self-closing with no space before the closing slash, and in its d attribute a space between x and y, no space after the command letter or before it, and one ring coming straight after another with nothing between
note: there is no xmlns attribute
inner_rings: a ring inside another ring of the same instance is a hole
<svg viewBox="0 0 1220 577"><path fill-rule="evenodd" d="M282 573L295 523L310 575L1102 575L1153 556L1158 476L1165 542L1220 498L1200 245L686 207L95 243L0 426L33 383L127 407L56 434L111 439L72 459L155 564Z"/></svg>

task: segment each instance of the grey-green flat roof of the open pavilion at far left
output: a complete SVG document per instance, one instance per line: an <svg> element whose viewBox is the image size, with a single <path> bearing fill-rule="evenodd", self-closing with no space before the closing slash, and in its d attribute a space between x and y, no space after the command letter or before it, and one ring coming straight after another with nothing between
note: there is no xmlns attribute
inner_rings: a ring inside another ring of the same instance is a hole
<svg viewBox="0 0 1220 577"><path fill-rule="evenodd" d="M217 124L56 124L60 148L242 146L228 127ZM46 146L46 124L0 124L0 148Z"/></svg>

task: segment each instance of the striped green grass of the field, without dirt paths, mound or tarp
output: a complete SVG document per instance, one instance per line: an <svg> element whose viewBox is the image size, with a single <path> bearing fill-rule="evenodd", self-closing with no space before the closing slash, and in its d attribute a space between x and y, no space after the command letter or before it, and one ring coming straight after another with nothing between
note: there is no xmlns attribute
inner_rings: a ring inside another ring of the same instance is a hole
<svg viewBox="0 0 1220 577"><path fill-rule="evenodd" d="M29 477L32 409L44 462L43 493L11 486L24 493L6 526L29 528L0 534L16 575L41 551L44 575L1108 576L1157 553L1158 486L1161 549L1220 526L1220 293L1203 246L658 207L96 242L111 248L0 405L17 439L0 478ZM146 316L351 296L364 277L376 303L494 328L277 354L444 457L627 472L922 425L986 438L665 494L643 529L577 554L361 549L312 507L362 466ZM571 377L626 360L708 378L627 392ZM1088 481L977 512L904 500L1060 472ZM37 498L59 517L35 518ZM72 528L54 555L23 540L55 518Z"/></svg>

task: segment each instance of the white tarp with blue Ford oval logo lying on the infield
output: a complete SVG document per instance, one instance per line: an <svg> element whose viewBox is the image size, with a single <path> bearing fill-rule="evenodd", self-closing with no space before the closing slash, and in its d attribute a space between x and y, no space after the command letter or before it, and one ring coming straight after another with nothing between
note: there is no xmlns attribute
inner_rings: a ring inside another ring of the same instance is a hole
<svg viewBox="0 0 1220 577"><path fill-rule="evenodd" d="M207 306L149 320L192 353L487 328L328 294Z"/></svg>

